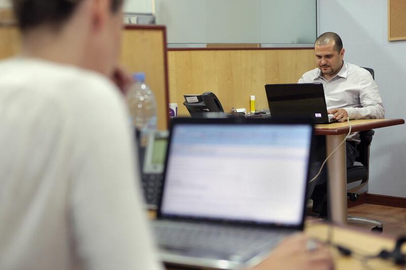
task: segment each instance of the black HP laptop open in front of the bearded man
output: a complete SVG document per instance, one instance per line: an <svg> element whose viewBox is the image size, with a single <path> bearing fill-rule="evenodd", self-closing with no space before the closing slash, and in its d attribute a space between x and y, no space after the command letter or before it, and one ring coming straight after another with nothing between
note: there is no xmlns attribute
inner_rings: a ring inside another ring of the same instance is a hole
<svg viewBox="0 0 406 270"><path fill-rule="evenodd" d="M309 117L317 124L335 122L327 113L323 84L265 85L272 117Z"/></svg>

